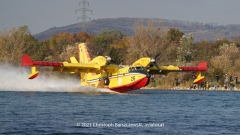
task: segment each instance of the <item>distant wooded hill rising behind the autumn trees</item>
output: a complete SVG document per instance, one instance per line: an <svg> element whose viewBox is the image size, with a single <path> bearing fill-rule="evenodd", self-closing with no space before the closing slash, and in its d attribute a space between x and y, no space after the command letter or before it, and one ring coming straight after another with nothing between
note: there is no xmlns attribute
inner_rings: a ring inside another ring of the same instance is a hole
<svg viewBox="0 0 240 135"><path fill-rule="evenodd" d="M87 22L86 32L97 35L105 29L117 29L128 35L134 35L133 26L136 21L144 20L147 24L149 18L104 18ZM179 20L154 19L163 22L164 29L177 28L184 34L192 33L195 42L201 40L214 41L221 38L233 39L240 35L240 24L218 25L217 23L200 23ZM38 40L50 39L60 32L79 33L81 24L72 24L63 27L53 27L46 31L35 34Z"/></svg>

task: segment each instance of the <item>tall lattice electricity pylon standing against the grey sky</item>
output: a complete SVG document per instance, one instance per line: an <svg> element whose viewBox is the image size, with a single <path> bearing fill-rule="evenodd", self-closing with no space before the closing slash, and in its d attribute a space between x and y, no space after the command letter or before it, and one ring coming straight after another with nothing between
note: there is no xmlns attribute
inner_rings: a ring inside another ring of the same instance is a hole
<svg viewBox="0 0 240 135"><path fill-rule="evenodd" d="M82 7L80 9L76 9L75 12L77 13L77 11L82 11L82 16L79 16L77 20L79 20L79 18L82 19L82 31L86 31L86 19L91 20L91 18L86 15L86 11L90 11L92 14L92 10L86 8L86 6L89 6L89 3L85 0L79 2L79 6L81 5Z"/></svg>

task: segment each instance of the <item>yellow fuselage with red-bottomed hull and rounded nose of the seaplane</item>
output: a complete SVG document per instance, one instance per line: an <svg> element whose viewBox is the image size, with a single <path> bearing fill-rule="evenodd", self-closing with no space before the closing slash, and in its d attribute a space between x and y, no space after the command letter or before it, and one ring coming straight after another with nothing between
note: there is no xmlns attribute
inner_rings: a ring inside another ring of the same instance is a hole
<svg viewBox="0 0 240 135"><path fill-rule="evenodd" d="M145 67L132 66L120 68L115 74L104 72L92 75L91 79L86 78L86 82L91 87L108 88L122 93L146 86L149 77L150 75Z"/></svg>

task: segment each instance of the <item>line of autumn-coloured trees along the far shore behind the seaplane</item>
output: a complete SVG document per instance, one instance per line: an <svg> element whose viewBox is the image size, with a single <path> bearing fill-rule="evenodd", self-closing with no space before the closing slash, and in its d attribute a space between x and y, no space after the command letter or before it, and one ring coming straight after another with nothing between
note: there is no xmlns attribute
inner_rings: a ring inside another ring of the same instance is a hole
<svg viewBox="0 0 240 135"><path fill-rule="evenodd" d="M78 57L77 44L87 43L91 58L98 55L111 55L117 64L131 65L141 57L152 57L160 53L157 60L161 65L196 66L199 62L208 62L207 80L215 80L224 74L240 76L240 37L236 39L218 39L214 42L202 40L193 42L194 35L184 35L176 28L163 28L161 21L149 20L148 23L137 21L134 35L129 36L116 29L106 29L98 35L86 32L61 32L49 40L39 41L31 35L28 26L2 30L0 32L0 62L20 65L23 54L29 54L33 60L69 61L70 56ZM168 79L179 78L191 81L191 73L172 73ZM166 82L171 85L173 82Z"/></svg>

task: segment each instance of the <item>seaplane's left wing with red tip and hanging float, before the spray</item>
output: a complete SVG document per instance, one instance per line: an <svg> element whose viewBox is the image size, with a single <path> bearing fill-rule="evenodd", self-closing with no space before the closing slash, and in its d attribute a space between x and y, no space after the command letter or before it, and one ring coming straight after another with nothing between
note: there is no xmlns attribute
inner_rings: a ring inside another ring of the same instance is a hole
<svg viewBox="0 0 240 135"><path fill-rule="evenodd" d="M36 66L50 66L53 67L53 71L59 72L101 72L101 67L103 65L91 64L91 63L77 63L77 61L72 60L72 63L68 62L45 62L45 61L32 61L30 56L25 54L22 56L22 66L31 66L32 73L29 75L29 79L34 79L38 76L38 71L36 71Z"/></svg>

